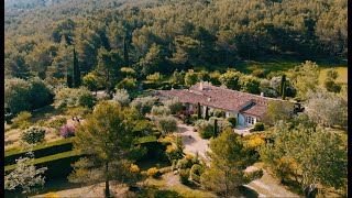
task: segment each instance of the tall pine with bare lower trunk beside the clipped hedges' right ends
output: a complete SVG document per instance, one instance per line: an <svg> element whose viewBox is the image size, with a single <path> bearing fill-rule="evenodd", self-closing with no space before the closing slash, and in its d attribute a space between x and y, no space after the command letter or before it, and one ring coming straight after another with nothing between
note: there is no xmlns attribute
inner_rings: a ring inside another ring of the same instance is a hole
<svg viewBox="0 0 352 198"><path fill-rule="evenodd" d="M121 107L111 101L102 101L79 125L74 141L75 150L86 157L73 166L69 175L73 183L105 182L105 197L110 197L110 180L129 183L129 166L135 161L132 154L132 123Z"/></svg>

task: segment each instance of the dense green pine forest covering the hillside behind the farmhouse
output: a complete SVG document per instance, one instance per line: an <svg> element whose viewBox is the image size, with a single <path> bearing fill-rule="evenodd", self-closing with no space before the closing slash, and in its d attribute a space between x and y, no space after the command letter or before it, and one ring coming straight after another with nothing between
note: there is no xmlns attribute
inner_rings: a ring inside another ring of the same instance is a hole
<svg viewBox="0 0 352 198"><path fill-rule="evenodd" d="M6 77L64 79L74 48L82 75L109 59L138 78L273 54L345 58L346 9L346 0L9 0Z"/></svg>

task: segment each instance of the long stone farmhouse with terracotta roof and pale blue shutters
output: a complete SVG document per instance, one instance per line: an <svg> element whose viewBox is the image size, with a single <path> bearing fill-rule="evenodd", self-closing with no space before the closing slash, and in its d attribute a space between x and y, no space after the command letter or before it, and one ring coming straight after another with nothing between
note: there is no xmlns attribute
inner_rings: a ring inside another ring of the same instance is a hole
<svg viewBox="0 0 352 198"><path fill-rule="evenodd" d="M270 101L279 100L274 98L241 92L222 87L212 86L209 82L198 82L189 89L160 90L156 96L161 100L177 98L187 110L197 112L198 102L201 112L220 110L223 117L237 118L239 127L252 127L263 118Z"/></svg>

